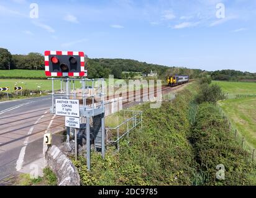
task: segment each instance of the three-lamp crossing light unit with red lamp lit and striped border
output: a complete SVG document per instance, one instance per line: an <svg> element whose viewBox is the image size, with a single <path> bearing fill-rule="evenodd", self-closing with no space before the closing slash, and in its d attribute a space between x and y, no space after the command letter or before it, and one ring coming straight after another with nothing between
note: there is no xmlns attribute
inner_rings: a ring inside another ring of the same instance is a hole
<svg viewBox="0 0 256 198"><path fill-rule="evenodd" d="M45 75L87 76L85 53L81 51L45 51Z"/></svg>

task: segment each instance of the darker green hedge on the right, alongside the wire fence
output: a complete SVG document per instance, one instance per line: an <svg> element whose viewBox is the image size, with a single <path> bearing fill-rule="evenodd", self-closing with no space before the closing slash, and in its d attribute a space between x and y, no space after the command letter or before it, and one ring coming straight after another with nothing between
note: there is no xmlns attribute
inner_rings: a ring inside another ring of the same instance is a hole
<svg viewBox="0 0 256 198"><path fill-rule="evenodd" d="M248 185L255 165L249 153L237 144L227 123L209 103L199 105L196 113L191 144L199 169L208 174L204 185ZM216 166L225 166L225 179L216 179Z"/></svg>

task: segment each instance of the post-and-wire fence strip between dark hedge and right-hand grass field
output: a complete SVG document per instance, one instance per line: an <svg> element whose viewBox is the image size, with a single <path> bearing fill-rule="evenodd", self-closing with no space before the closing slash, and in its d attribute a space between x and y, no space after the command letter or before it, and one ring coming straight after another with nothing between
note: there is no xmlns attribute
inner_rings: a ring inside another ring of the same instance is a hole
<svg viewBox="0 0 256 198"><path fill-rule="evenodd" d="M242 149L244 149L245 151L249 152L250 160L255 162L256 161L256 151L255 151L255 148L252 147L252 145L250 145L249 142L247 142L245 137L242 136L242 134L238 131L238 129L234 126L234 124L232 124L231 119L222 110L221 106L218 103L217 103L216 106L217 106L217 109L219 110L219 113L221 114L221 116L224 118L226 123L229 125L229 129L232 132L232 134L234 136L234 139L238 142L239 145L241 145Z"/></svg>

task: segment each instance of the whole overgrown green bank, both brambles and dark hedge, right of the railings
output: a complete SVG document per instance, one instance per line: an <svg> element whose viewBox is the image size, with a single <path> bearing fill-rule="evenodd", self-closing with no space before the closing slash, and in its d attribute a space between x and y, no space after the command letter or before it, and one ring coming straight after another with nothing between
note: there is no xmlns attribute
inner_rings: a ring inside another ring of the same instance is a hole
<svg viewBox="0 0 256 198"><path fill-rule="evenodd" d="M143 131L122 140L119 153L108 147L106 158L92 152L91 171L86 159L74 161L83 185L247 185L255 166L248 153L235 142L214 105L191 102L189 90L171 102L144 112ZM216 179L223 164L226 179Z"/></svg>

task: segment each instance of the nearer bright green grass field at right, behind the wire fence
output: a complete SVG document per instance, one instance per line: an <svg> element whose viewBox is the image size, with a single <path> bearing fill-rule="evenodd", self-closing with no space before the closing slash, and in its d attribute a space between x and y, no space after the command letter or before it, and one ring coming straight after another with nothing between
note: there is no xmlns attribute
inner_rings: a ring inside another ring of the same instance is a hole
<svg viewBox="0 0 256 198"><path fill-rule="evenodd" d="M219 101L231 123L256 149L256 98Z"/></svg>

